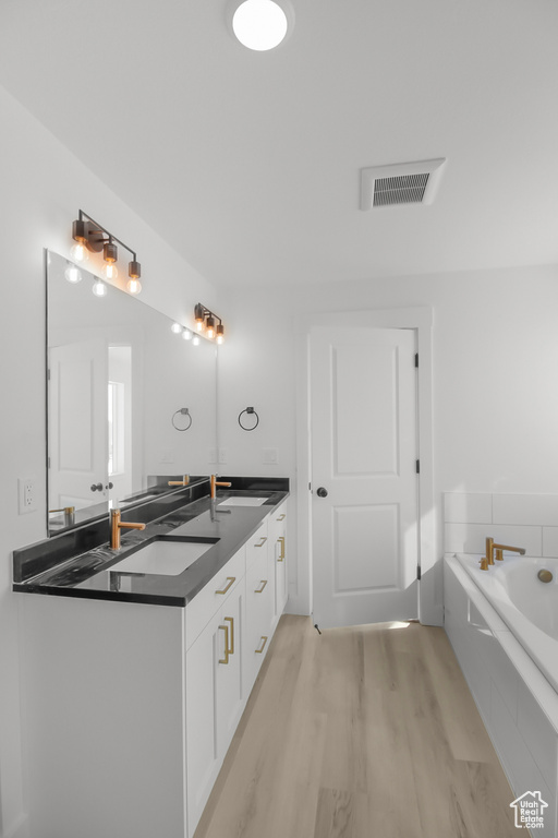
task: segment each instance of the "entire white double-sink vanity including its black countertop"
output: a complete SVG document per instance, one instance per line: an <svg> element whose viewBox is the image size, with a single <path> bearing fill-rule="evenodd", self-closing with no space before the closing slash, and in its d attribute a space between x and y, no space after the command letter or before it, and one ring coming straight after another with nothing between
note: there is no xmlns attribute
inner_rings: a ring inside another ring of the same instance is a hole
<svg viewBox="0 0 558 838"><path fill-rule="evenodd" d="M287 496L202 498L14 583L34 834L193 836L286 606Z"/></svg>

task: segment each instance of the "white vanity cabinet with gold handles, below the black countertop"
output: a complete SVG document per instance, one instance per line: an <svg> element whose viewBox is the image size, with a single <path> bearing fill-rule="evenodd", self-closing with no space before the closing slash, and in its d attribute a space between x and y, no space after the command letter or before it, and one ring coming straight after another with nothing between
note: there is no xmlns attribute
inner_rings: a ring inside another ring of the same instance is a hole
<svg viewBox="0 0 558 838"><path fill-rule="evenodd" d="M286 600L283 511L185 608L22 596L33 838L193 838Z"/></svg>

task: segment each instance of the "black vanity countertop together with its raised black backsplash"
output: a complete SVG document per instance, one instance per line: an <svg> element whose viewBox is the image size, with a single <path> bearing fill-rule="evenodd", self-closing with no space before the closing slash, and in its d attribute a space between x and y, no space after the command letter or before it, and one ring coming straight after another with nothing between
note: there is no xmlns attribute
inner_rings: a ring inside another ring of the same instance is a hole
<svg viewBox="0 0 558 838"><path fill-rule="evenodd" d="M271 478L267 486L267 501L262 506L228 507L225 513L216 512L218 504L211 503L207 494L194 502L184 502L183 498L180 508L173 508L162 517L159 515L155 520L150 519L145 530L123 535L122 549L118 552L108 546L108 520L101 522L102 527L97 524L96 528L93 528L94 525L84 528L92 531L81 534L77 547L76 536L81 530L16 550L13 589L27 594L184 607L258 528L270 510L289 494L287 478ZM278 486L283 488L277 489ZM246 492L234 489L233 482L231 490L219 492L218 500L234 495L238 491L242 494ZM264 491L259 488L257 493L262 495ZM138 508L126 511L126 519L142 520L137 513ZM179 527L180 536L173 536ZM88 540L100 538L100 532L104 541L88 543ZM73 540L68 542L72 537ZM203 561L195 562L178 576L119 574L117 570L110 570L148 541L158 538L180 541L181 537L185 540L218 540L205 553ZM59 540L63 540L63 543L57 552Z"/></svg>

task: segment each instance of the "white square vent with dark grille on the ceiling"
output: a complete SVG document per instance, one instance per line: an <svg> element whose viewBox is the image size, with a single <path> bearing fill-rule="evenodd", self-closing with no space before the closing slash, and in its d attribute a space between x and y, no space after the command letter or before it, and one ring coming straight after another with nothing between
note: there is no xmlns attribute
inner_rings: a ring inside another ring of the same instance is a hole
<svg viewBox="0 0 558 838"><path fill-rule="evenodd" d="M361 210L402 204L430 204L445 157L361 169Z"/></svg>

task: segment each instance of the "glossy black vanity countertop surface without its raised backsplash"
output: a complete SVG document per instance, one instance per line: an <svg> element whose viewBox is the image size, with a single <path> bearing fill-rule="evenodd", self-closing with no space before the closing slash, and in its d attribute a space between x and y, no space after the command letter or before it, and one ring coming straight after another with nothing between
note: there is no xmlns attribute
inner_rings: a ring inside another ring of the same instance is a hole
<svg viewBox="0 0 558 838"><path fill-rule="evenodd" d="M226 498L266 496L260 506L219 506ZM288 491L219 492L217 501L203 498L187 503L144 530L123 530L122 547L95 547L25 582L14 582L13 590L85 599L110 599L122 602L146 602L184 607L234 555L256 531L263 519L288 498ZM180 527L180 535L175 530ZM117 562L158 539L170 541L207 541L209 550L183 573L119 573L111 570ZM213 541L218 539L215 543Z"/></svg>

